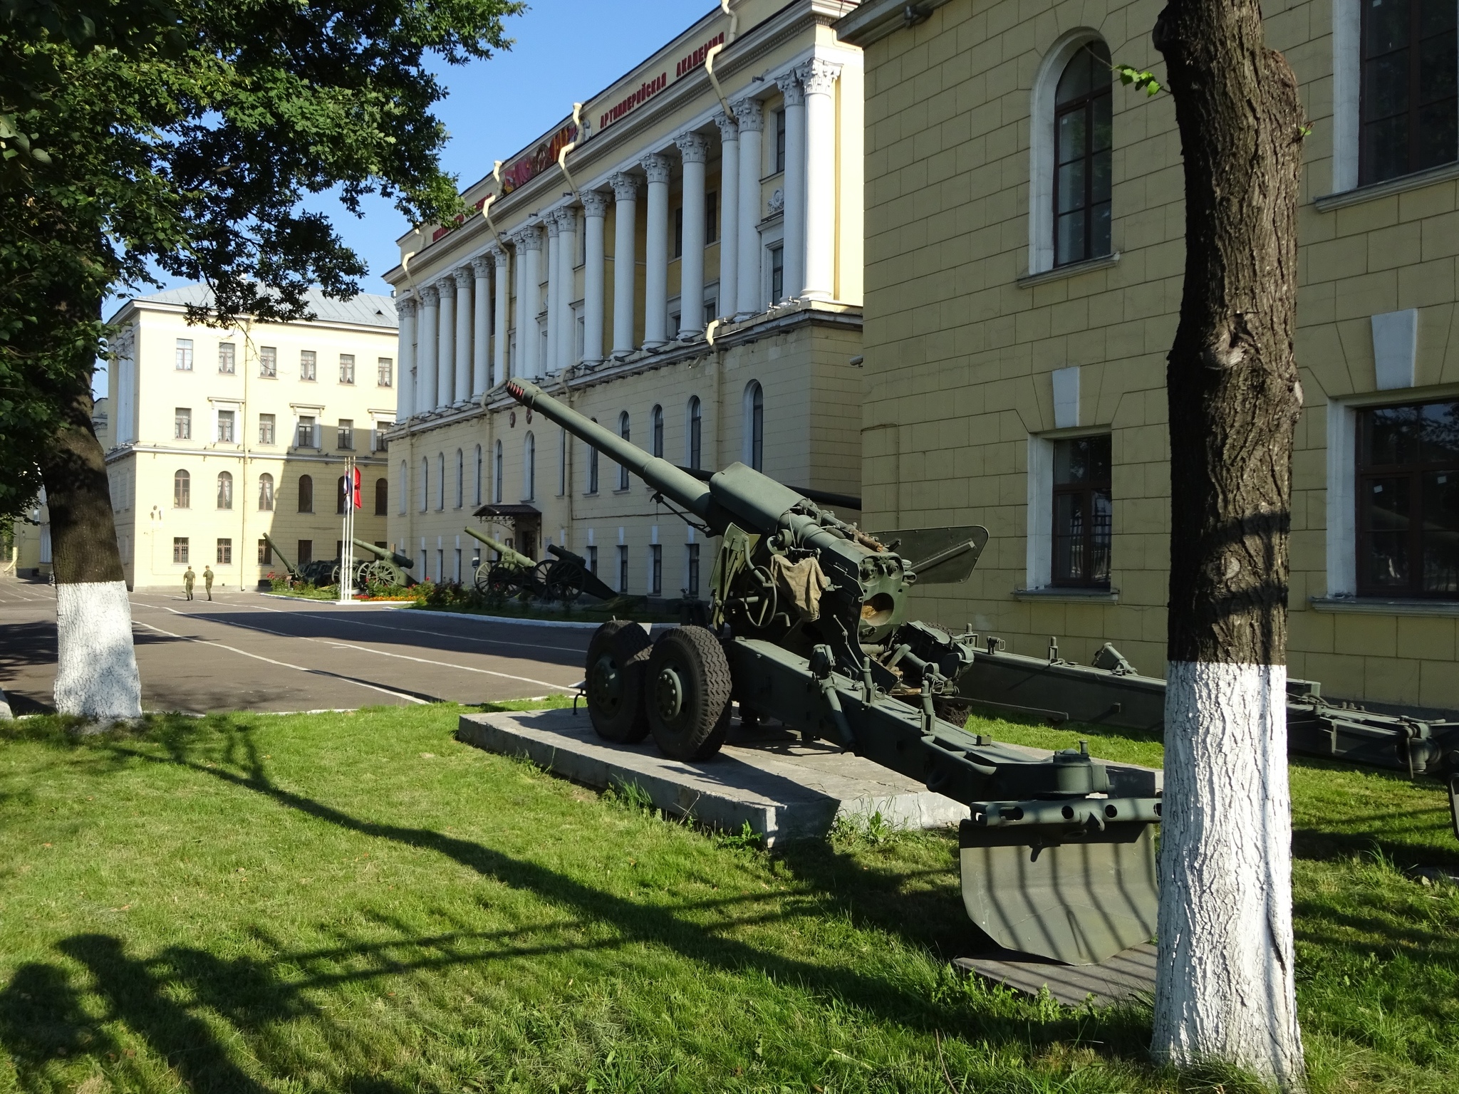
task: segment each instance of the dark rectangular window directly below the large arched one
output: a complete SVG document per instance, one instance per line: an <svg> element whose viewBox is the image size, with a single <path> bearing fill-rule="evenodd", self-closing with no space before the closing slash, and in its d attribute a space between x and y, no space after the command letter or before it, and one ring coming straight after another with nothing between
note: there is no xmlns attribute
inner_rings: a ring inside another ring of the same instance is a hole
<svg viewBox="0 0 1459 1094"><path fill-rule="evenodd" d="M1109 588L1110 438L1053 442L1053 585Z"/></svg>

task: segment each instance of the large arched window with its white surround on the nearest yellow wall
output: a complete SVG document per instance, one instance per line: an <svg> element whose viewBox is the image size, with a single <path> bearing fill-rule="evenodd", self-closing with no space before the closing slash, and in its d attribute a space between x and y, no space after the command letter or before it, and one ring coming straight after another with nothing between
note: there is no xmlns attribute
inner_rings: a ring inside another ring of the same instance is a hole
<svg viewBox="0 0 1459 1094"><path fill-rule="evenodd" d="M1112 251L1110 89L1097 31L1069 31L1045 54L1030 104L1030 274Z"/></svg>

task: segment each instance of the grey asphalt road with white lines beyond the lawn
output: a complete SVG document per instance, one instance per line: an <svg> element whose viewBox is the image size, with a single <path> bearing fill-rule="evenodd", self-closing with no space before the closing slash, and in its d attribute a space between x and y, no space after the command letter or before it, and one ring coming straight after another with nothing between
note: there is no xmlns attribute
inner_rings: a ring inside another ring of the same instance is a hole
<svg viewBox="0 0 1459 1094"><path fill-rule="evenodd" d="M131 597L147 710L344 710L484 703L568 691L588 629L217 592ZM55 592L0 581L0 688L16 713L51 709Z"/></svg>

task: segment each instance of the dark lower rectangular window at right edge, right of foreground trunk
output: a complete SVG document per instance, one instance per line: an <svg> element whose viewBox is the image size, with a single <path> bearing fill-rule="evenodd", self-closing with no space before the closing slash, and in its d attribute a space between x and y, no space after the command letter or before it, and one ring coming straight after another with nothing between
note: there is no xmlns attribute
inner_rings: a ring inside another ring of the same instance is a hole
<svg viewBox="0 0 1459 1094"><path fill-rule="evenodd" d="M1459 598L1459 403L1358 414L1360 597Z"/></svg>

